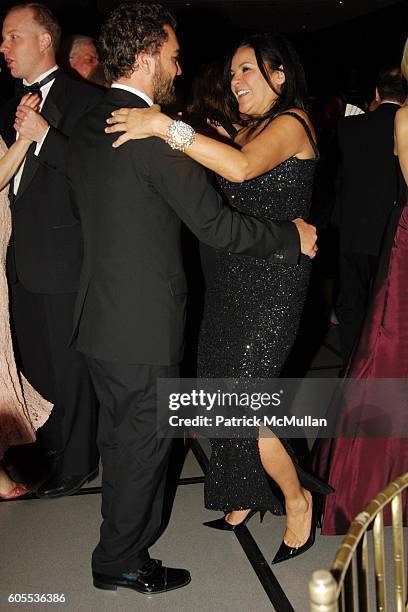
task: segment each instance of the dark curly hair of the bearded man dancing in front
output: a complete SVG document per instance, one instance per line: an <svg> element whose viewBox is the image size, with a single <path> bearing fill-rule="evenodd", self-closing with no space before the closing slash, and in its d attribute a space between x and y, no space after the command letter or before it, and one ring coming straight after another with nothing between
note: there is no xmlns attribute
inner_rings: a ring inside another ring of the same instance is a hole
<svg viewBox="0 0 408 612"><path fill-rule="evenodd" d="M161 4L123 3L104 23L99 37L99 51L108 80L129 77L135 55L146 51L158 53L167 40L163 26L176 28L173 15Z"/></svg>

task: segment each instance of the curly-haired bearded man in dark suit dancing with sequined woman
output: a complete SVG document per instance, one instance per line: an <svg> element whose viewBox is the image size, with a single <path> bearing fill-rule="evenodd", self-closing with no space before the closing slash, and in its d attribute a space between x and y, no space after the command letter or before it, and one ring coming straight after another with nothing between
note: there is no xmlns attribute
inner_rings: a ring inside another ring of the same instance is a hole
<svg viewBox="0 0 408 612"><path fill-rule="evenodd" d="M168 103L181 73L175 22L161 5L121 5L102 28L101 58L113 85L76 126L69 169L84 263L74 318L100 401L103 464L94 585L157 593L186 585L187 570L149 557L162 521L171 440L157 435L156 381L178 376L186 279L180 226L213 247L296 264L313 257L304 221L263 224L223 206L206 172L156 138L114 149L106 119L120 107ZM298 231L299 229L299 231Z"/></svg>

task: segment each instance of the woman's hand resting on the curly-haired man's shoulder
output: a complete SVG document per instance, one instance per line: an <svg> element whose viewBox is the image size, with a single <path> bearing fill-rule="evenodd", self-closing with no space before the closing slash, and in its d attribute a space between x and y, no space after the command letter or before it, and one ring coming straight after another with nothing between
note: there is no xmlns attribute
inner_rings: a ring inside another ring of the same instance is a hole
<svg viewBox="0 0 408 612"><path fill-rule="evenodd" d="M158 136L157 125L160 117L165 117L165 115L160 112L158 104L150 108L120 108L113 111L106 120L110 127L105 128L105 132L108 134L124 132L112 144L113 147L120 147L128 140Z"/></svg>

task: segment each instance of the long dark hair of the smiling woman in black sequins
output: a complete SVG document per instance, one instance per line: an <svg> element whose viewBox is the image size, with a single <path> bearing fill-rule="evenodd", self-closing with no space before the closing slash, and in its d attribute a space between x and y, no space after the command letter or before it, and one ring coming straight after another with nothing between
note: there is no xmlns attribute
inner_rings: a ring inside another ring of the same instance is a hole
<svg viewBox="0 0 408 612"><path fill-rule="evenodd" d="M231 91L231 62L234 53L240 47L251 47L255 52L256 61L262 76L269 87L277 94L270 109L262 115L251 116L240 122L245 125L254 126L261 122L272 120L288 108L296 107L307 112L307 87L305 71L297 51L291 43L281 34L253 34L241 42L226 62L224 71L224 83L228 92L229 104L235 109L237 116L238 103ZM285 83L280 91L277 91L270 80L268 69L277 70L282 66L285 73Z"/></svg>

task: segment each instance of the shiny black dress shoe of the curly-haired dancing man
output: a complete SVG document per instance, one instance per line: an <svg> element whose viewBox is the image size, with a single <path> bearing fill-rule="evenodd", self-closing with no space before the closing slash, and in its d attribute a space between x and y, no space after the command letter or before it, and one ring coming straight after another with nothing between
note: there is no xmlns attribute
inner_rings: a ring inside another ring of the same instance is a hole
<svg viewBox="0 0 408 612"><path fill-rule="evenodd" d="M93 572L93 583L97 589L116 591L118 586L121 586L145 595L179 589L186 586L190 580L190 572L187 570L163 567L158 559L150 559L140 569L119 576Z"/></svg>

